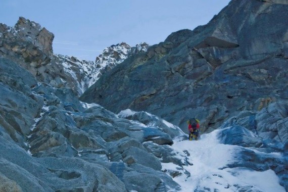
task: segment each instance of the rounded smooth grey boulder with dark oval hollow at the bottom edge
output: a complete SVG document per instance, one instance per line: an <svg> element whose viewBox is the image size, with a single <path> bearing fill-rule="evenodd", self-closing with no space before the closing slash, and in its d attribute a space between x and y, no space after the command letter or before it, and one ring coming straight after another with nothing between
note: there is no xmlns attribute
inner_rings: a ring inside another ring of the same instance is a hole
<svg viewBox="0 0 288 192"><path fill-rule="evenodd" d="M47 181L59 190L126 191L124 183L101 165L77 158L40 158L38 162L54 173Z"/></svg>

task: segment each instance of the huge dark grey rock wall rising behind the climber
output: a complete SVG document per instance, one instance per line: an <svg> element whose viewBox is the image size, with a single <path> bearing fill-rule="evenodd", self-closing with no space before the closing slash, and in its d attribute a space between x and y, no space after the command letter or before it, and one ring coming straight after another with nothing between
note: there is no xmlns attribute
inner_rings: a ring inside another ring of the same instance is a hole
<svg viewBox="0 0 288 192"><path fill-rule="evenodd" d="M185 131L186 120L197 117L203 132L286 101L287 10L285 1L231 1L207 25L174 32L128 58L80 100L116 113L148 111ZM287 141L274 133L267 137Z"/></svg>

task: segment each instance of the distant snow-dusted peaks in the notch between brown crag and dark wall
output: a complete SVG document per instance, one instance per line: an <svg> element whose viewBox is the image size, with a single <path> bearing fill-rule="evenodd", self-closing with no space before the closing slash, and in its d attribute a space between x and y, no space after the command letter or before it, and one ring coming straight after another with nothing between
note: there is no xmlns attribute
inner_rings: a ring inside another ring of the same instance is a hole
<svg viewBox="0 0 288 192"><path fill-rule="evenodd" d="M69 87L72 87L77 91L78 95L81 95L88 87L94 84L102 74L111 70L119 63L122 63L133 54L146 52L148 47L149 45L147 43L140 43L131 47L127 43L122 42L106 47L103 53L96 57L95 62L62 55L56 55L55 60L58 65L64 67L65 75L69 76ZM67 83L67 80L63 78L61 80Z"/></svg>

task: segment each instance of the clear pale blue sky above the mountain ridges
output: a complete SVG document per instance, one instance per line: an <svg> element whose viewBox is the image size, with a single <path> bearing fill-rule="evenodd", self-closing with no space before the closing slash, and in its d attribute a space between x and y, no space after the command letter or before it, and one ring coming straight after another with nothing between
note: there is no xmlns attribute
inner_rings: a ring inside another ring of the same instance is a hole
<svg viewBox="0 0 288 192"><path fill-rule="evenodd" d="M55 54L95 60L105 47L164 41L207 24L230 0L0 0L0 23L20 16L54 33Z"/></svg>

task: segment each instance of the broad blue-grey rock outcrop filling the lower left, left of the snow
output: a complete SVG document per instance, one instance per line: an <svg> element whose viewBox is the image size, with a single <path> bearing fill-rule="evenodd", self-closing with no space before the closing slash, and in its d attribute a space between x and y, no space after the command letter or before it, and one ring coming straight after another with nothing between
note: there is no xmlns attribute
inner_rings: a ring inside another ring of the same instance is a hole
<svg viewBox="0 0 288 192"><path fill-rule="evenodd" d="M171 145L172 137L183 134L178 127L169 134L163 129L170 124L154 124L154 119L165 122L158 117L151 115L154 119L143 124L81 103L71 88L37 83L9 59L0 58L0 73L1 189L180 189L161 171L160 158L143 145Z"/></svg>

